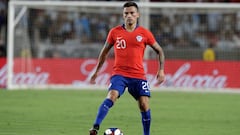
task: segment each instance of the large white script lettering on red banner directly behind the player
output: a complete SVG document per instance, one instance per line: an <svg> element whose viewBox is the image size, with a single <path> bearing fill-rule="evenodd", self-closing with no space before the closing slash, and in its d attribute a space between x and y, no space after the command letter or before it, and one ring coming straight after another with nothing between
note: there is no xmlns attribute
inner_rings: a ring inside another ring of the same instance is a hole
<svg viewBox="0 0 240 135"><path fill-rule="evenodd" d="M80 66L80 72L88 76L84 81L77 81L78 84L86 84L90 79L89 75L93 73L94 68L91 70L87 70L87 67L90 65L95 65L96 60L86 60ZM96 79L96 83L98 85L108 85L109 78L111 77L111 73L107 73L106 69L108 67L108 63L102 67L98 78ZM144 63L145 70L147 70L147 63ZM220 75L218 70L215 69L212 71L212 74L195 74L190 75L187 72L191 70L190 63L184 63L181 65L174 73L167 73L166 80L160 86L171 86L171 87L195 87L195 88L224 88L227 82L227 76ZM150 74L147 72L146 74L147 80L153 86L159 87L157 85L156 75Z"/></svg>

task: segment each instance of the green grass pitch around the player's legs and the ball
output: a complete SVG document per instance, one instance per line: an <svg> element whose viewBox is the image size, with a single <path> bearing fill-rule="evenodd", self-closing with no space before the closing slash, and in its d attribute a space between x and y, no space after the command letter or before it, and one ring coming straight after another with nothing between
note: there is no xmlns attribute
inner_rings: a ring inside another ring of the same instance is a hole
<svg viewBox="0 0 240 135"><path fill-rule="evenodd" d="M0 90L0 135L88 135L103 90ZM151 135L239 135L240 94L152 91ZM99 135L118 127L142 135L136 101L126 92Z"/></svg>

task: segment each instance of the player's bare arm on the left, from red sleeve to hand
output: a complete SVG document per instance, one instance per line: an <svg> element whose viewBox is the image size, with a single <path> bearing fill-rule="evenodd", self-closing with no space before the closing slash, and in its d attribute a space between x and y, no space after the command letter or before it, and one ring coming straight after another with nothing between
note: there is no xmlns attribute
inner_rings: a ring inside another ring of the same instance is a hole
<svg viewBox="0 0 240 135"><path fill-rule="evenodd" d="M108 53L110 51L110 49L112 48L113 45L109 44L108 42L105 42L99 56L98 56L98 63L97 63L97 66L95 68L95 71L93 72L91 78L90 78L90 83L91 84L95 84L95 79L97 78L98 76L98 73L99 71L101 70L107 56L108 56Z"/></svg>

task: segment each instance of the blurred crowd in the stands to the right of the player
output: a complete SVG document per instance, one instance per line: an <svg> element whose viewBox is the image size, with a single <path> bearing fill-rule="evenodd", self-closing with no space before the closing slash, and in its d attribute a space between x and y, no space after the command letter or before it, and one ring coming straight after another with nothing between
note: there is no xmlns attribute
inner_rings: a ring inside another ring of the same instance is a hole
<svg viewBox="0 0 240 135"><path fill-rule="evenodd" d="M240 47L240 12L152 16L152 31L165 47Z"/></svg>

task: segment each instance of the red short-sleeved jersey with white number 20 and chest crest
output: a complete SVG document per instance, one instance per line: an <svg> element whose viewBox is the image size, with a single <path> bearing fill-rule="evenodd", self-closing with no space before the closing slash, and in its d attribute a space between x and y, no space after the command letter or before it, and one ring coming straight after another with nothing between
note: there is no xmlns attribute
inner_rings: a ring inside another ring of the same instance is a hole
<svg viewBox="0 0 240 135"><path fill-rule="evenodd" d="M143 68L144 50L146 45L156 42L149 30L137 26L134 31L128 32L123 26L117 26L110 30L107 42L114 46L113 75L146 79Z"/></svg>

